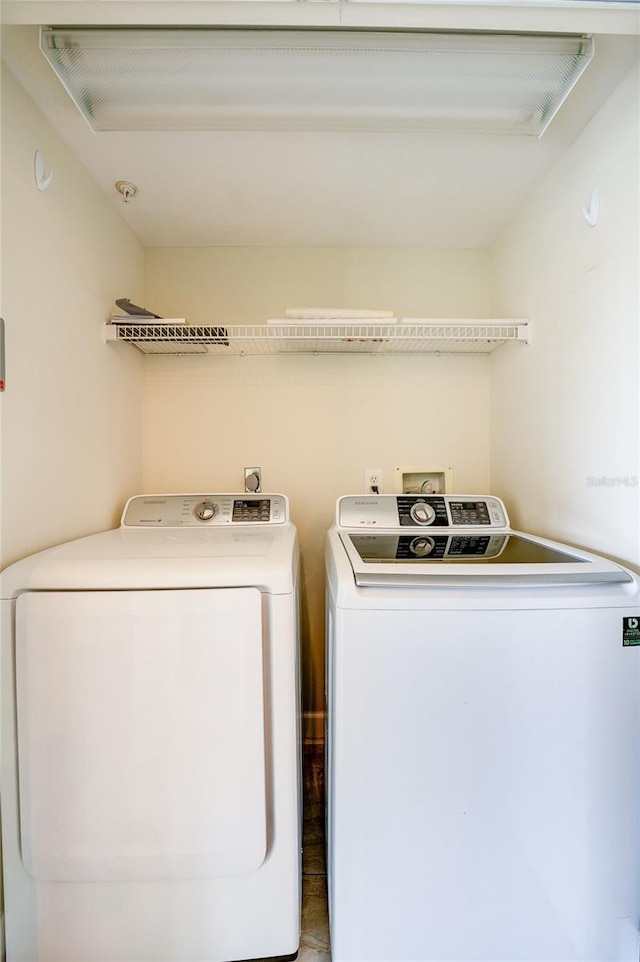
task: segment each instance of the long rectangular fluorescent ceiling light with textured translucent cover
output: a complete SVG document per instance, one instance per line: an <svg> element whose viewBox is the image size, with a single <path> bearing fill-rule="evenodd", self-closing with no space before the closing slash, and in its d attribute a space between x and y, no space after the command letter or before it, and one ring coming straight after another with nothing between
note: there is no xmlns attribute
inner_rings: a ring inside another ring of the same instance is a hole
<svg viewBox="0 0 640 962"><path fill-rule="evenodd" d="M459 130L540 136L593 55L580 36L43 28L93 130Z"/></svg>

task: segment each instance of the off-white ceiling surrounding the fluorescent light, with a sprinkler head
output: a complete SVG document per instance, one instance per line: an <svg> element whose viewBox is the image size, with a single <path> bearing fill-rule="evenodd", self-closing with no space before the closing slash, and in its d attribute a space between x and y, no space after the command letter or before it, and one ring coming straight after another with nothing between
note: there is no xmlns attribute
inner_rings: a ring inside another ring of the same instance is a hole
<svg viewBox="0 0 640 962"><path fill-rule="evenodd" d="M259 4L247 6L259 11ZM327 9L316 9L322 6ZM365 4L357 6L362 11ZM252 19L259 22L259 14ZM575 17L574 29L581 31L579 23ZM35 23L5 25L2 41L9 68L145 247L474 248L491 243L630 68L638 46L632 31L626 34L609 28L596 36L593 62L540 140L443 133L95 133L40 53ZM117 180L138 187L127 205L116 194Z"/></svg>

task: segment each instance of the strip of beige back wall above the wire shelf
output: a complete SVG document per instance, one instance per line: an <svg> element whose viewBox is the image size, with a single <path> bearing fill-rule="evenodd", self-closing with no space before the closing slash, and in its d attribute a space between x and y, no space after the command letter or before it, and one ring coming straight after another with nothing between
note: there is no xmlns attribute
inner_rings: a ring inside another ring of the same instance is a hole
<svg viewBox="0 0 640 962"><path fill-rule="evenodd" d="M259 324L287 307L358 307L398 316L483 316L477 250L332 247L152 248L146 296L192 324Z"/></svg>

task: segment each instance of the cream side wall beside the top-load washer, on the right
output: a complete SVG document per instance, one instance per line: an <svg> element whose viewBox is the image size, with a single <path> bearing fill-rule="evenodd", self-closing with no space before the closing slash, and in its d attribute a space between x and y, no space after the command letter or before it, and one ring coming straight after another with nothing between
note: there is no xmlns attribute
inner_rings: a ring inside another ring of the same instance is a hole
<svg viewBox="0 0 640 962"><path fill-rule="evenodd" d="M494 493L517 524L640 563L640 82L601 108L492 254L492 309L534 341L491 371ZM591 191L601 217L582 216Z"/></svg>

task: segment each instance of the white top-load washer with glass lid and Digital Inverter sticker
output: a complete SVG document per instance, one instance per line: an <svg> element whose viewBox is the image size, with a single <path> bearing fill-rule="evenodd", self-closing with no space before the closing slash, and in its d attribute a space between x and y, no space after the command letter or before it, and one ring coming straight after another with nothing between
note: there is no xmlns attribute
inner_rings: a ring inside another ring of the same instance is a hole
<svg viewBox="0 0 640 962"><path fill-rule="evenodd" d="M333 962L638 960L639 579L491 497L339 499Z"/></svg>

